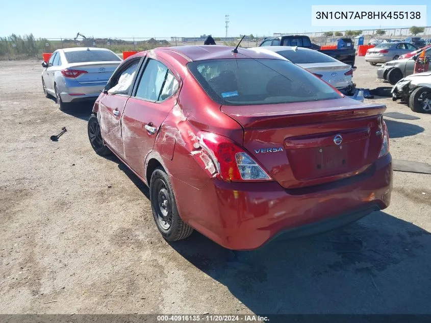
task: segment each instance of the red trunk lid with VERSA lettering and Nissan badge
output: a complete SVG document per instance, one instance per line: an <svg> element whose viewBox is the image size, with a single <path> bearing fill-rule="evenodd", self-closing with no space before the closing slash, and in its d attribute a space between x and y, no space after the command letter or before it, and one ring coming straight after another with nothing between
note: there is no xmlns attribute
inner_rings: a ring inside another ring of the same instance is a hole
<svg viewBox="0 0 431 323"><path fill-rule="evenodd" d="M244 128L244 147L285 188L351 177L377 159L384 105L349 98L294 104L221 106Z"/></svg>

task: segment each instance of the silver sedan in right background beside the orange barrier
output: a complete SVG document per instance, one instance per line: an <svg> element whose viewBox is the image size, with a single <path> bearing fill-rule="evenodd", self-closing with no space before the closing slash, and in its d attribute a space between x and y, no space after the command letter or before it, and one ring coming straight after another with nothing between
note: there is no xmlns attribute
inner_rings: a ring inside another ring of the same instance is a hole
<svg viewBox="0 0 431 323"><path fill-rule="evenodd" d="M387 42L379 44L373 48L369 48L365 54L365 61L371 65L377 63L386 63L398 59L403 54L416 51L415 45L407 42Z"/></svg>

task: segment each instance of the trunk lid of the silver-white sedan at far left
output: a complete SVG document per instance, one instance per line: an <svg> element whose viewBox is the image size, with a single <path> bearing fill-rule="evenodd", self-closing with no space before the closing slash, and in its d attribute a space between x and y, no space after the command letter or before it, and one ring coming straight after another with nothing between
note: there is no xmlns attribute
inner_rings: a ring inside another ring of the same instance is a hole
<svg viewBox="0 0 431 323"><path fill-rule="evenodd" d="M104 83L108 82L112 73L121 62L86 62L72 63L67 69L85 70L86 73L80 74L75 80L80 84Z"/></svg>

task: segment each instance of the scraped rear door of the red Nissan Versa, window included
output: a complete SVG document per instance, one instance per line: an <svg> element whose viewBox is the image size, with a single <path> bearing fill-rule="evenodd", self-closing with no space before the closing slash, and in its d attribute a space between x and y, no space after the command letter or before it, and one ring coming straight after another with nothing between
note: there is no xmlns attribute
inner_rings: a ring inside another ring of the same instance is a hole
<svg viewBox="0 0 431 323"><path fill-rule="evenodd" d="M158 130L178 99L180 82L166 61L147 59L124 109L121 129L125 160L142 178Z"/></svg>

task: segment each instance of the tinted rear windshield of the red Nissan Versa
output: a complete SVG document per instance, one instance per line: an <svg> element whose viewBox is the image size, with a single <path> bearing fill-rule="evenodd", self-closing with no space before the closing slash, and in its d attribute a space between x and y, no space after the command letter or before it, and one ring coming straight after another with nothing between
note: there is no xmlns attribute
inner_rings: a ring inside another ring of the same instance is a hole
<svg viewBox="0 0 431 323"><path fill-rule="evenodd" d="M340 98L312 73L284 60L216 59L187 64L208 95L222 105L261 105Z"/></svg>

